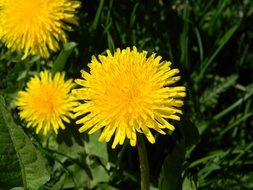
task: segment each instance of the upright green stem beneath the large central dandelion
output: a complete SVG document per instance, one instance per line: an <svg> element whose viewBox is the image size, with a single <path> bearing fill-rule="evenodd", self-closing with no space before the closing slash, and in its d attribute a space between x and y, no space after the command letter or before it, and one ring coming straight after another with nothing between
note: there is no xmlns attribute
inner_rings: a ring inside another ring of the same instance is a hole
<svg viewBox="0 0 253 190"><path fill-rule="evenodd" d="M141 170L141 190L149 190L149 165L146 146L142 134L138 135L137 148Z"/></svg>

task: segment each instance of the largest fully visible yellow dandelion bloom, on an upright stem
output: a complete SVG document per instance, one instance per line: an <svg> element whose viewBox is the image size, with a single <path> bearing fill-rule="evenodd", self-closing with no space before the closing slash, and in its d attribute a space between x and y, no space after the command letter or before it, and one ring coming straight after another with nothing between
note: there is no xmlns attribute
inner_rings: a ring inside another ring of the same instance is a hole
<svg viewBox="0 0 253 190"><path fill-rule="evenodd" d="M112 148L125 138L136 145L137 132L155 142L150 129L165 134L174 130L167 119L180 120L179 109L186 95L184 86L171 86L180 79L178 69L160 56L138 52L136 47L117 49L114 55L92 57L90 73L81 71L83 79L75 82L82 87L72 93L83 103L74 108L75 116L83 116L77 124L80 132L89 134L103 128L99 141L108 142L113 134Z"/></svg>

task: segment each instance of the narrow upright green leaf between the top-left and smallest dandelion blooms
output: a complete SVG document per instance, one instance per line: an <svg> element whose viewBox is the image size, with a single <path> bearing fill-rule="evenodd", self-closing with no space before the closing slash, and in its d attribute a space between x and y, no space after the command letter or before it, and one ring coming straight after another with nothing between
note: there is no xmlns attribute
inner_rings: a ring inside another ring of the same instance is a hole
<svg viewBox="0 0 253 190"><path fill-rule="evenodd" d="M60 52L60 54L58 55L58 57L56 58L56 60L53 63L53 67L51 70L51 72L53 74L55 74L56 72L63 71L66 62L67 62L70 54L72 53L72 51L76 47L76 45L77 45L77 43L75 43L75 42L68 42L64 45L63 50Z"/></svg>

